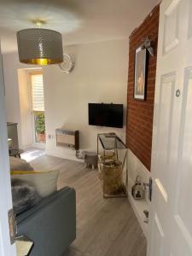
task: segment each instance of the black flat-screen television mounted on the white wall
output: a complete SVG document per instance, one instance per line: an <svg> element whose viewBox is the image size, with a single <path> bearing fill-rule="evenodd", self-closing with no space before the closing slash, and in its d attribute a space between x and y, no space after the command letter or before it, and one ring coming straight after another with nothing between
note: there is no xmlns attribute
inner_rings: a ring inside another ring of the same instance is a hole
<svg viewBox="0 0 192 256"><path fill-rule="evenodd" d="M89 103L89 125L123 128L123 104Z"/></svg>

